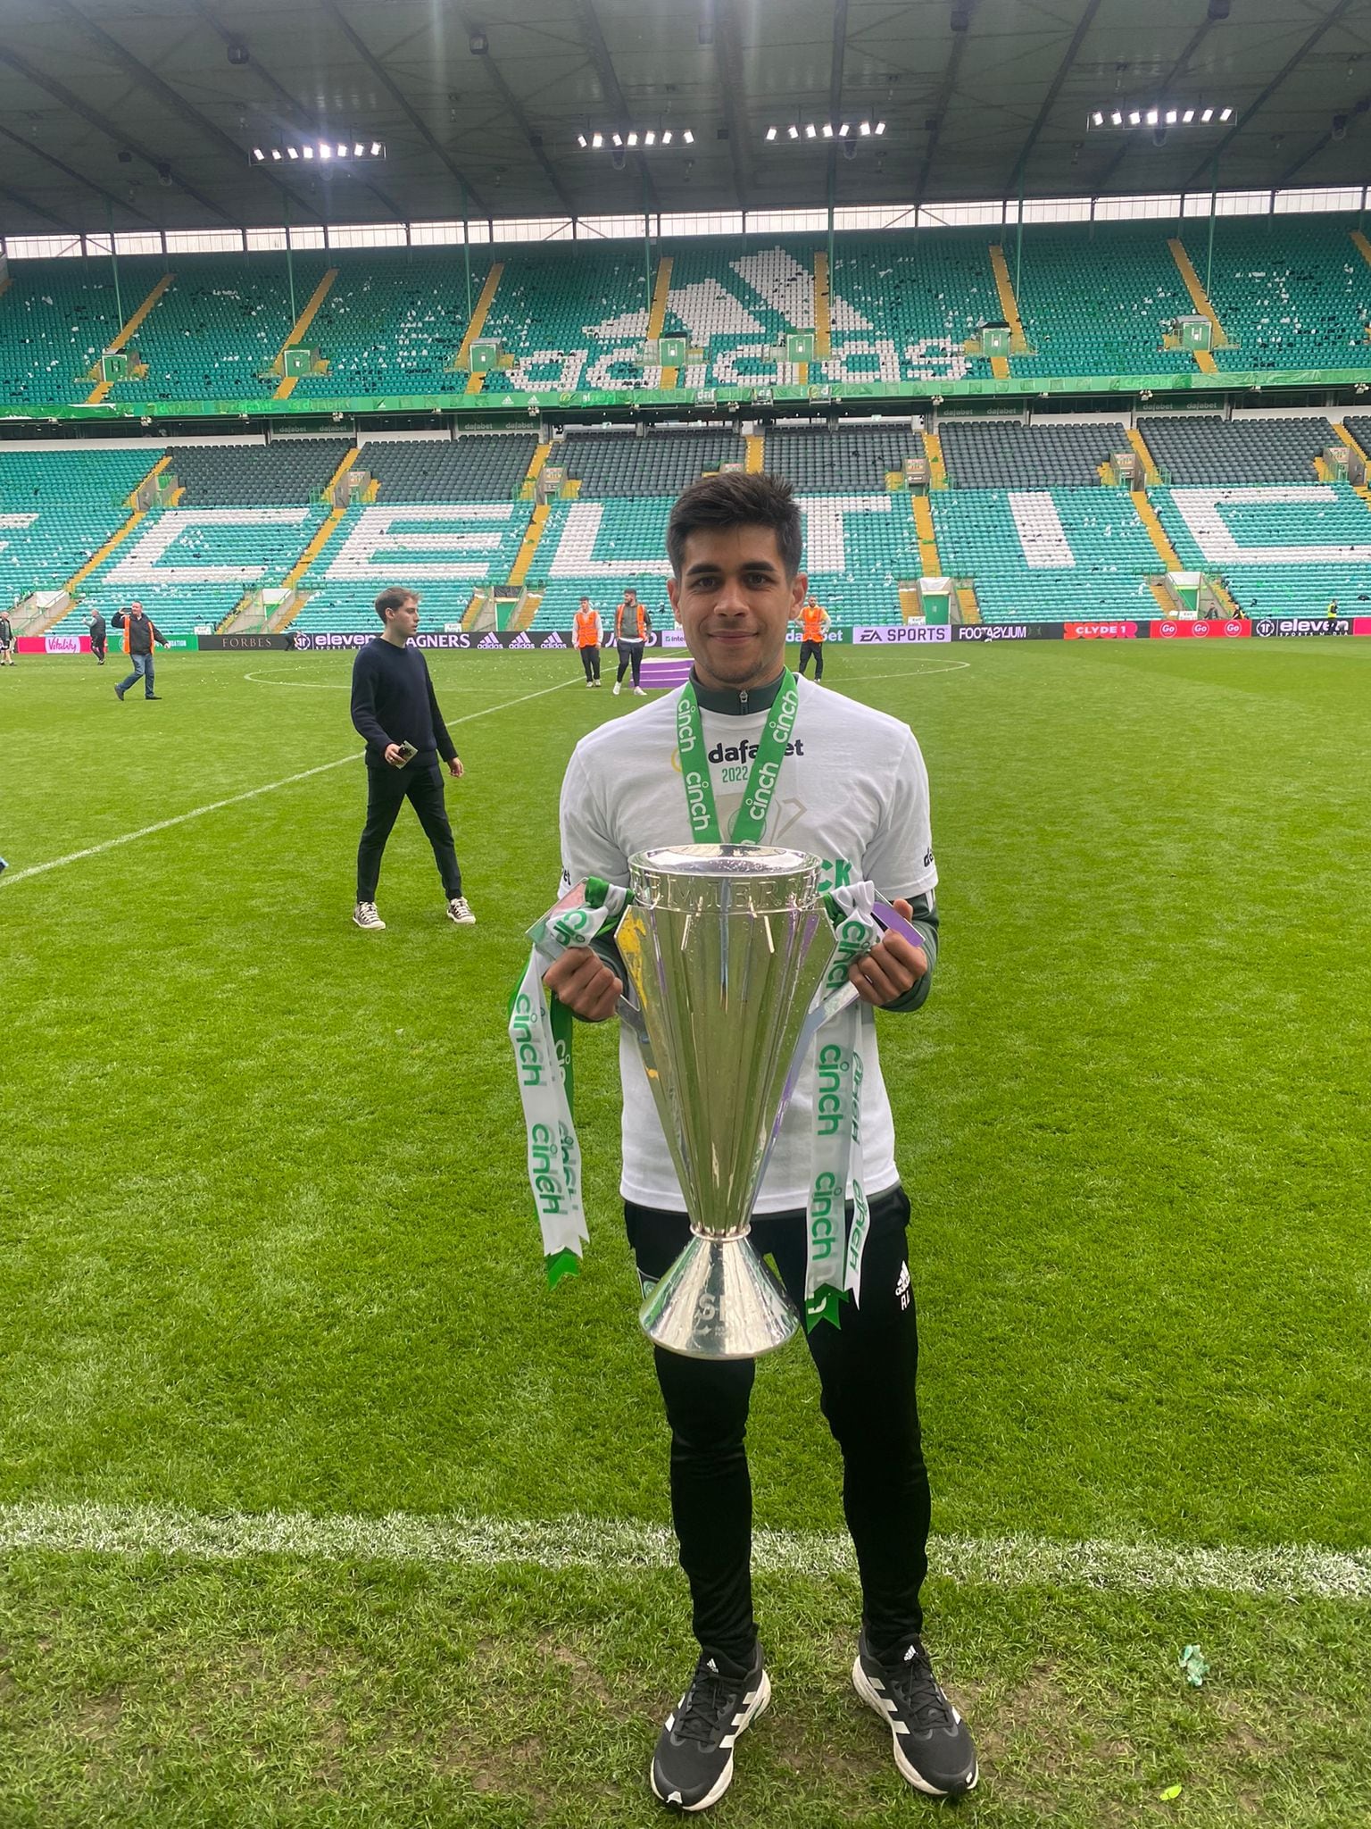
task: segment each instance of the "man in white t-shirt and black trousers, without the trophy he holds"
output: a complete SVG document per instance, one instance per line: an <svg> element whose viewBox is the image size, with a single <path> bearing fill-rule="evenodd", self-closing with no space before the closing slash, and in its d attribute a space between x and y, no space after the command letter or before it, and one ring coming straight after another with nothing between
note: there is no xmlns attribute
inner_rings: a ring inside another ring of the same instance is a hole
<svg viewBox="0 0 1371 1829"><path fill-rule="evenodd" d="M923 944L887 935L852 969L870 1010L918 1010L938 944L929 836L929 781L909 728L808 680L773 786L753 779L771 706L788 688L786 627L804 602L801 518L790 485L726 474L693 485L667 529L671 604L695 669L691 688L665 693L632 717L583 737L561 788L563 885L585 876L629 882L629 856L693 841L676 759L678 717L696 717L709 754L718 829L728 838L744 799L770 792L764 843L824 858L824 885L870 880L914 922ZM695 706L682 702L695 693ZM773 739L779 741L779 739ZM751 757L751 768L720 757ZM770 768L770 763L768 763ZM583 1021L614 1013L622 966L612 947L574 947L547 986ZM976 1750L919 1637L927 1573L929 1476L914 1396L918 1333L905 1247L910 1207L894 1160L890 1101L876 1028L863 1011L863 1143L870 1229L861 1302L841 1326L808 1335L823 1412L843 1450L843 1503L857 1549L863 1624L852 1681L894 1738L903 1776L930 1796L976 1783ZM623 1083L623 1211L643 1288L689 1238L689 1220L656 1118L638 1044L620 1033ZM771 1152L753 1218L804 1306L806 1196L813 1123L813 1064L801 1077ZM848 1224L852 1203L848 1202ZM751 1487L744 1452L749 1361L713 1363L656 1353L671 1425L671 1511L691 1588L700 1659L653 1756L653 1791L700 1811L733 1776L733 1741L768 1705L770 1679L751 1608Z"/></svg>

